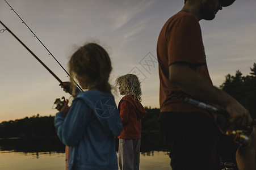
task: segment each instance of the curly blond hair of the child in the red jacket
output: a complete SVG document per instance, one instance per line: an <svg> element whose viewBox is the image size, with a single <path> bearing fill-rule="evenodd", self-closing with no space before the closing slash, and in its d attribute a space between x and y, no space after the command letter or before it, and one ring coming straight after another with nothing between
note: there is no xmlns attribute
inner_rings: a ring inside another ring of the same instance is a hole
<svg viewBox="0 0 256 170"><path fill-rule="evenodd" d="M137 75L126 74L116 79L116 86L124 90L125 95L133 95L135 99L141 101L141 84Z"/></svg>

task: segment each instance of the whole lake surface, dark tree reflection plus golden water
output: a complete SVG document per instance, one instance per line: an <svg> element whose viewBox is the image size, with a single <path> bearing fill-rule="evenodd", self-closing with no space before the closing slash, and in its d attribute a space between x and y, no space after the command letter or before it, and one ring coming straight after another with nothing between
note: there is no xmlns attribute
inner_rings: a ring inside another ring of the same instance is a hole
<svg viewBox="0 0 256 170"><path fill-rule="evenodd" d="M170 170L170 158L156 141L157 135L144 134L143 137L140 169ZM0 139L0 169L64 170L64 151L65 146L57 138Z"/></svg>

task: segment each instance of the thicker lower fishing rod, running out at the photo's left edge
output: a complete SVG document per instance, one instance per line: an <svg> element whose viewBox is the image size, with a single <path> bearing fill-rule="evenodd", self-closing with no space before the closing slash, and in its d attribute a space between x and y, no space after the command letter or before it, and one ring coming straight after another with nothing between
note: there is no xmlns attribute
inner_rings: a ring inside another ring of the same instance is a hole
<svg viewBox="0 0 256 170"><path fill-rule="evenodd" d="M9 32L11 33L11 35L14 36L15 39L18 40L18 41L20 42L20 44L22 44L22 45L24 46L24 48L26 48L26 49L28 50L28 52L30 52L30 53L32 54L32 56L35 57L35 58L37 59L37 61L39 61L39 62L41 63L41 65L43 65L43 66L45 67L45 69L47 69L47 70L49 71L49 73L51 73L51 74L54 76L54 78L56 78L56 79L58 80L58 82L60 82L60 84L63 84L63 82L61 81L61 79L58 78L58 76L57 76L56 74L54 74L54 73L52 72L52 70L49 69L49 67L47 67L47 65L45 65L45 64L36 56L36 54L34 54L34 53L27 47L27 45L25 45L25 44L24 44L24 43L23 43L23 42L22 42L5 24L3 24L3 23L1 22L1 20L0 20L0 23L3 25L3 27L5 27L5 29L0 29L0 33L5 32L5 30L9 31ZM79 86L77 85L77 87L79 87Z"/></svg>

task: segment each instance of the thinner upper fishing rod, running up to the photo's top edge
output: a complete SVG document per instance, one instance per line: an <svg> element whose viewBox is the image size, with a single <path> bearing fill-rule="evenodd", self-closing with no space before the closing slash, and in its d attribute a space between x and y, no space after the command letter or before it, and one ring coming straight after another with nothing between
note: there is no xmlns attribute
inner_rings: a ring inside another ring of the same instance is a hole
<svg viewBox="0 0 256 170"><path fill-rule="evenodd" d="M65 73L71 78L71 76L69 75L68 71L65 70L65 68L61 65L60 62L58 62L58 60L53 56L53 54L50 52L50 50L48 50L48 48L43 44L43 42L36 36L36 34L32 31L32 29L30 27L28 27L28 25L24 22L24 20L19 16L19 14L14 10L14 8L11 7L11 5L5 0L5 2L7 3L7 5L10 6L11 10L15 12L15 14L19 17L20 20L22 20L22 23L24 23L26 25L26 27L30 30L30 32L32 32L33 36L36 37L36 39L40 42L41 45L44 46L44 48L47 50L47 52L49 53L49 56L52 56L53 59L58 63L58 65L60 65L60 67L65 71ZM83 91L82 88L74 81L75 85L79 88L80 91Z"/></svg>

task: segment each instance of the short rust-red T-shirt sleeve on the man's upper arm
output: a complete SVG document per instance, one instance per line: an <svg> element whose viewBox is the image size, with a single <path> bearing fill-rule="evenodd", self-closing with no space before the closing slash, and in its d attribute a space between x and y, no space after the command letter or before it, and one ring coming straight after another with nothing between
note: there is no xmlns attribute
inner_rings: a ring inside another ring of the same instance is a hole
<svg viewBox="0 0 256 170"><path fill-rule="evenodd" d="M198 20L193 15L184 15L169 24L166 30L168 64L187 62L204 64L205 53Z"/></svg>

